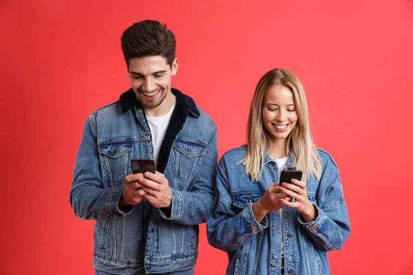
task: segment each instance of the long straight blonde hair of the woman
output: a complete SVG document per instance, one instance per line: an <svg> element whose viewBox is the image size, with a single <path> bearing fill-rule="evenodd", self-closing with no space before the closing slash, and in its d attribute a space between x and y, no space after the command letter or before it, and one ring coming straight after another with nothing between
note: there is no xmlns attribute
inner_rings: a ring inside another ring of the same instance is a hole
<svg viewBox="0 0 413 275"><path fill-rule="evenodd" d="M266 91L274 85L283 85L293 93L298 118L297 124L287 137L286 153L290 156L291 148L293 148L295 168L303 171L302 180L306 181L310 175L319 179L321 163L317 147L311 140L306 94L304 94L304 88L297 76L287 69L272 69L267 72L262 76L255 89L246 130L247 152L242 162L245 165L246 173L251 176L253 181L258 181L262 172L265 151L271 150L271 133L262 122L262 108Z"/></svg>

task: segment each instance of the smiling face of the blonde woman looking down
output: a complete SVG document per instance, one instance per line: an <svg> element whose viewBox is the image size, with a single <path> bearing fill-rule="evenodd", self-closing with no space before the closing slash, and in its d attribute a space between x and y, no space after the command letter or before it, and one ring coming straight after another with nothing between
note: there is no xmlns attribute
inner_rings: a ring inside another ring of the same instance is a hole
<svg viewBox="0 0 413 275"><path fill-rule="evenodd" d="M277 139L286 139L297 123L293 93L283 85L270 87L264 96L262 123Z"/></svg>

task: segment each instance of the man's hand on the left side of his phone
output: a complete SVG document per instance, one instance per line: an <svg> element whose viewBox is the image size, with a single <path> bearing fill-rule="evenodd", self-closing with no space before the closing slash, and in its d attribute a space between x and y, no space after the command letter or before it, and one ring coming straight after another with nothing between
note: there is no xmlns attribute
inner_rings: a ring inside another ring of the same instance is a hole
<svg viewBox="0 0 413 275"><path fill-rule="evenodd" d="M146 192L142 190L142 184L138 181L140 178L143 178L143 174L131 174L125 177L122 196L119 200L120 208L128 205L134 206L142 201Z"/></svg>

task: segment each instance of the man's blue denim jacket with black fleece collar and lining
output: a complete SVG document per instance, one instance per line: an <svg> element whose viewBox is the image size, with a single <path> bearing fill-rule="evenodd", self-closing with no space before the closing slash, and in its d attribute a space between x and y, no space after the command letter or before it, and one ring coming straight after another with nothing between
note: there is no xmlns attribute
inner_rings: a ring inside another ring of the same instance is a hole
<svg viewBox="0 0 413 275"><path fill-rule="evenodd" d="M76 156L70 203L94 219L93 265L116 274L171 272L195 265L198 224L212 206L218 163L217 129L192 98L172 89L176 107L156 170L172 190L171 210L143 200L120 210L132 158L153 158L151 132L132 89L89 115Z"/></svg>

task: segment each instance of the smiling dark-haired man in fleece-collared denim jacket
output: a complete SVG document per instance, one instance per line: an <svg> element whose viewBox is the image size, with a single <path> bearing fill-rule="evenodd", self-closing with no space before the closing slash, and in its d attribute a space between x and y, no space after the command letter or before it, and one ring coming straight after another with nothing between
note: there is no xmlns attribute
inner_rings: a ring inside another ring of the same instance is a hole
<svg viewBox="0 0 413 275"><path fill-rule="evenodd" d="M192 98L171 88L175 36L158 21L121 38L131 89L89 115L70 203L95 219L95 274L193 274L198 224L213 205L217 129ZM156 173L131 174L131 159Z"/></svg>

